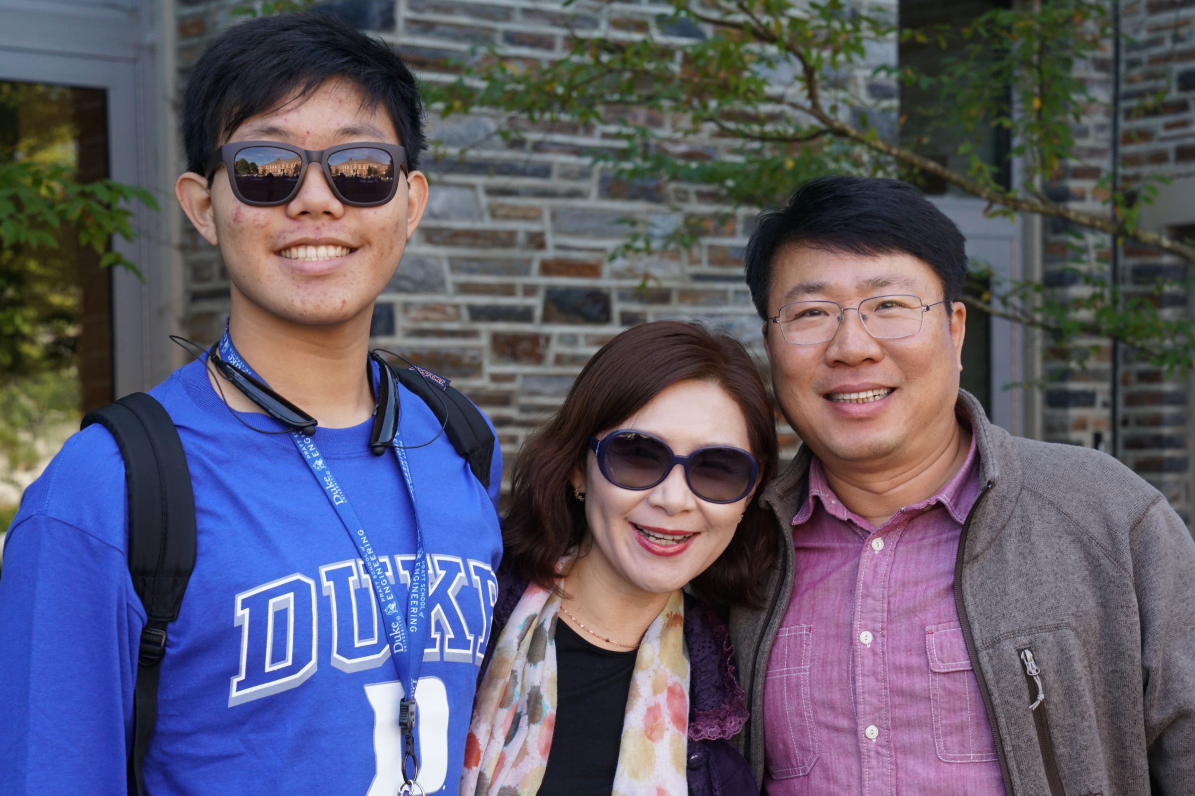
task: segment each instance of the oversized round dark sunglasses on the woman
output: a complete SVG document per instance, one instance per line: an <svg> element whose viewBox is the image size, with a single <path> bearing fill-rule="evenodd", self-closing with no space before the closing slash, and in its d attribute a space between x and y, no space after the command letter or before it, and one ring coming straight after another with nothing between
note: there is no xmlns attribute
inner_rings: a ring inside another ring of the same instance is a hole
<svg viewBox="0 0 1195 796"><path fill-rule="evenodd" d="M741 501L759 477L755 457L740 448L711 446L679 457L663 440L633 429L611 431L601 440L590 436L589 449L606 480L623 489L651 489L681 465L688 488L710 503Z"/></svg>

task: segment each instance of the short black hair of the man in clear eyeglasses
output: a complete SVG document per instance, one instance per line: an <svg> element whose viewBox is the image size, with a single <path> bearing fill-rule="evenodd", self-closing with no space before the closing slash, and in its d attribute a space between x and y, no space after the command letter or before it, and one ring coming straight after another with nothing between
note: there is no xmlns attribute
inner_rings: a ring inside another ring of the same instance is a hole
<svg viewBox="0 0 1195 796"><path fill-rule="evenodd" d="M747 243L747 287L765 320L772 264L777 252L792 244L864 257L911 255L938 274L944 299L962 298L963 233L919 190L899 179L819 177L802 183L786 207L760 214Z"/></svg>

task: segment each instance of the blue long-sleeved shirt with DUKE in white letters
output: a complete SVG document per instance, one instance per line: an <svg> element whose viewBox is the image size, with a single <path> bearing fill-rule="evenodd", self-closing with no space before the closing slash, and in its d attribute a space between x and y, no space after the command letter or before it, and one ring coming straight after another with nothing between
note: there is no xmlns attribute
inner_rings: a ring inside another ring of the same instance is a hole
<svg viewBox="0 0 1195 796"><path fill-rule="evenodd" d="M403 688L368 574L287 434L243 425L189 365L152 391L178 427L197 556L161 662L145 764L154 796L393 796ZM406 445L439 422L402 388ZM240 415L276 430L262 415ZM405 605L415 558L397 457L373 423L315 443L385 553ZM502 553L490 489L447 436L407 451L430 565L416 698L419 784L455 794ZM74 435L22 501L0 578L0 792L124 794L145 611L128 572L124 465L111 435Z"/></svg>

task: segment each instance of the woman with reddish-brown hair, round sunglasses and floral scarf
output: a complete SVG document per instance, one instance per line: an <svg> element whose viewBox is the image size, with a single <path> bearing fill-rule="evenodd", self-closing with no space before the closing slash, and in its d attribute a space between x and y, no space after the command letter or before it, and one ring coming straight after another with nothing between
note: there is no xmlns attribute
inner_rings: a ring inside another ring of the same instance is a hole
<svg viewBox="0 0 1195 796"><path fill-rule="evenodd" d="M742 344L697 324L586 365L515 464L461 796L759 792L718 611L758 604L778 552L753 501L773 417Z"/></svg>

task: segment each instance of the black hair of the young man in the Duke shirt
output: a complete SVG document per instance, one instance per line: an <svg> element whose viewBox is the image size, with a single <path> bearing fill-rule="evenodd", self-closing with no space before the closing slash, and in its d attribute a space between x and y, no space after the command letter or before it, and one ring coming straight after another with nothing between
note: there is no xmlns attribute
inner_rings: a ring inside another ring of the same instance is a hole
<svg viewBox="0 0 1195 796"><path fill-rule="evenodd" d="M183 100L188 171L202 174L212 151L246 120L335 78L355 84L370 110L386 109L407 166L417 169L423 103L398 53L330 17L281 14L229 27L196 62Z"/></svg>

